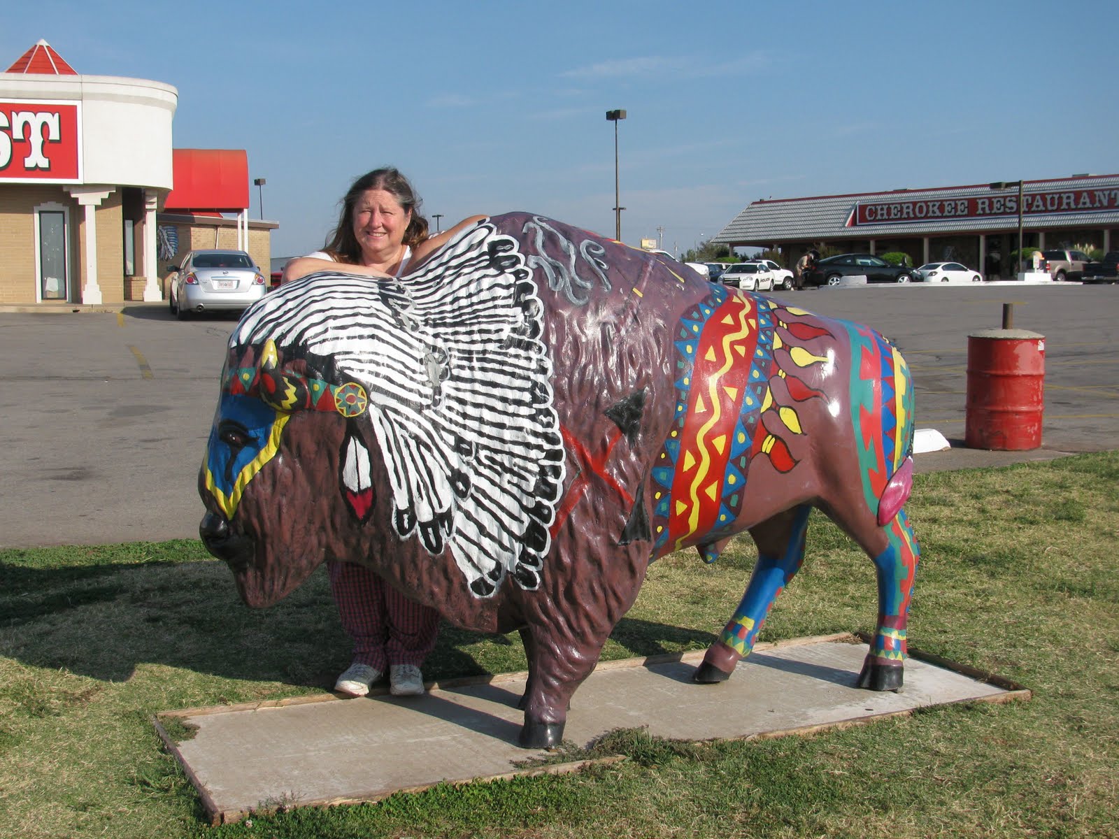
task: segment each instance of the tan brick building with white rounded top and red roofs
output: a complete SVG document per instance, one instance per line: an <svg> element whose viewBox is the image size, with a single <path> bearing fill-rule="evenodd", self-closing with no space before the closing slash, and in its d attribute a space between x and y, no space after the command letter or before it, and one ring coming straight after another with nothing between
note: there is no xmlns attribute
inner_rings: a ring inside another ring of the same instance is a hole
<svg viewBox="0 0 1119 839"><path fill-rule="evenodd" d="M0 73L0 304L159 301L166 266L199 247L270 264L278 225L248 219L247 154L172 149L177 104L45 40Z"/></svg>

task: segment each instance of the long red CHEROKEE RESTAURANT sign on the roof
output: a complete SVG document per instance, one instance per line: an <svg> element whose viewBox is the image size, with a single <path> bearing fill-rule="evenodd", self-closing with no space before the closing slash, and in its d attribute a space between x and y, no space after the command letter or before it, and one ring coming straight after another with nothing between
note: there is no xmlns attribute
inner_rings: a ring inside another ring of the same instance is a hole
<svg viewBox="0 0 1119 839"><path fill-rule="evenodd" d="M1091 213L1119 208L1119 189L1063 189L1026 192L1024 215L1034 213ZM858 204L847 226L924 221L930 218L982 218L1018 213L1018 196L991 195L982 198L937 198L913 201Z"/></svg>

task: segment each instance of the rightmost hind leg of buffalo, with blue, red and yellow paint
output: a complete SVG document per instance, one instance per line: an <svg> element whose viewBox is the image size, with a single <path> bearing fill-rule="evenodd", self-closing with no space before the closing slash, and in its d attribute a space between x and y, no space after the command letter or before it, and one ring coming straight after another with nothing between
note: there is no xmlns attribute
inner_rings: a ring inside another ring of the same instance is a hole
<svg viewBox="0 0 1119 839"><path fill-rule="evenodd" d="M905 663L905 624L920 553L904 510L885 527L888 545L873 556L878 581L878 623L858 687L897 690Z"/></svg>

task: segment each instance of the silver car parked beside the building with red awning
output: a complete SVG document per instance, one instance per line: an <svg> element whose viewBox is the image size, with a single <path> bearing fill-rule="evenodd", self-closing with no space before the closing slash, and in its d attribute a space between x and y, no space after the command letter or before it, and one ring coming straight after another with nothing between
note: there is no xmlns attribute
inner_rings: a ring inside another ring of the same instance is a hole
<svg viewBox="0 0 1119 839"><path fill-rule="evenodd" d="M178 265L168 265L168 302L179 320L203 312L247 309L267 293L264 273L244 251L191 251Z"/></svg>

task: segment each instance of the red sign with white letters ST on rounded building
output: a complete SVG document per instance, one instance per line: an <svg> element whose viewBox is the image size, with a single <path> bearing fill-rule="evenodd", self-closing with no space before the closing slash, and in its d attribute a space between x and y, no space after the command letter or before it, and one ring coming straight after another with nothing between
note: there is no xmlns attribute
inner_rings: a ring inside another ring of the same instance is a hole
<svg viewBox="0 0 1119 839"><path fill-rule="evenodd" d="M0 101L0 180L81 181L79 107Z"/></svg>

